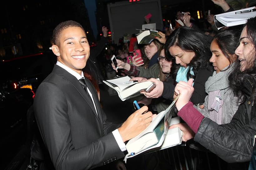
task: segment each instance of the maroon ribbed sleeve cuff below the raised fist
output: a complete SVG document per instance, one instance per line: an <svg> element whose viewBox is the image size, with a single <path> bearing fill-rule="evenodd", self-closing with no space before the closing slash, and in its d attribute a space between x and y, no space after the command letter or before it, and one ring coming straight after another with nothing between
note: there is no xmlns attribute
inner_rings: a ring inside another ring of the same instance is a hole
<svg viewBox="0 0 256 170"><path fill-rule="evenodd" d="M198 127L204 118L204 116L193 107L192 102L183 106L178 112L178 116L181 117L195 133L197 133Z"/></svg>

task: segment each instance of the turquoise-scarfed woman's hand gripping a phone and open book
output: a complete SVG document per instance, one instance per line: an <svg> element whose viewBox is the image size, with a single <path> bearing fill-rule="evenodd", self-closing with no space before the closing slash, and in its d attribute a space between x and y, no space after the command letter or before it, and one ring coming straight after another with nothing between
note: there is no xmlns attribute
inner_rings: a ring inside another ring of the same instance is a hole
<svg viewBox="0 0 256 170"><path fill-rule="evenodd" d="M148 81L155 83L156 87L150 93L147 93L145 91L140 93L144 94L146 98L159 98L164 90L163 82L160 80L156 80L155 78L150 78Z"/></svg>

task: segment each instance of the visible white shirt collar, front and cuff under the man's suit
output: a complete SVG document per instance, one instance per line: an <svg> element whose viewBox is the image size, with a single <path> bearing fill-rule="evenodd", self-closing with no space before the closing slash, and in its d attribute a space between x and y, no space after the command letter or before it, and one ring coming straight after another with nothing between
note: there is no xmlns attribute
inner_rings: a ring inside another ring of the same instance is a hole
<svg viewBox="0 0 256 170"><path fill-rule="evenodd" d="M67 72L69 72L70 74L72 74L73 76L76 77L77 80L80 80L81 78L84 78L84 73L82 71L82 74L78 74L76 71L72 70L71 68L67 67L66 65L62 64L61 62L57 61L56 65L62 67L63 69L65 69ZM87 88L87 87L86 87ZM93 99L92 97L92 94L90 92L90 90L87 88L87 91L89 93L89 95L91 96L91 99ZM93 102L93 105L94 105L94 108L96 110L96 113L98 115L98 112L97 112L97 109L96 109L96 106L95 106L95 103L94 103L94 100L92 100ZM116 142L119 146L119 148L121 149L121 151L126 151L126 147L125 147L125 143L123 142L122 140L122 137L118 131L118 129L112 131L112 134L114 136L114 138L116 139Z"/></svg>

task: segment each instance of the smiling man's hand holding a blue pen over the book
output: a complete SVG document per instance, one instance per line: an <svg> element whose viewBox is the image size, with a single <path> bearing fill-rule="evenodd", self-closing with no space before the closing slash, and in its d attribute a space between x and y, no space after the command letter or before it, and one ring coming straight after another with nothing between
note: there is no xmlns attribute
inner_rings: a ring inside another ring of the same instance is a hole
<svg viewBox="0 0 256 170"><path fill-rule="evenodd" d="M134 138L150 125L150 122L152 122L152 118L156 115L153 115L151 112L146 112L147 110L147 106L143 106L139 110L136 110L128 117L128 119L122 124L122 126L118 128L123 142ZM142 114L144 112L146 113Z"/></svg>

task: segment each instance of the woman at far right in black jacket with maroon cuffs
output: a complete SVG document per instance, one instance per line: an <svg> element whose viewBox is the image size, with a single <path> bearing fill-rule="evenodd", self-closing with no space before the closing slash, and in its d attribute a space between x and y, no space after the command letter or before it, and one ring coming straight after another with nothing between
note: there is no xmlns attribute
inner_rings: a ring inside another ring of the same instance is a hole
<svg viewBox="0 0 256 170"><path fill-rule="evenodd" d="M235 50L240 62L234 62L229 81L234 93L242 98L230 123L218 125L199 113L189 101L194 88L192 79L181 81L175 87L180 94L176 107L187 124L176 124L183 131L183 140L194 140L228 163L248 162L252 155L256 135L256 17L248 19ZM243 96L243 97L242 97ZM247 168L248 169L248 168Z"/></svg>

